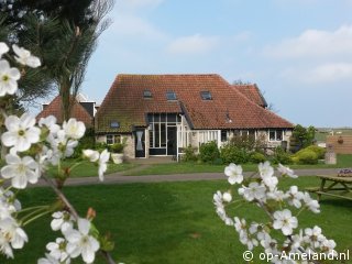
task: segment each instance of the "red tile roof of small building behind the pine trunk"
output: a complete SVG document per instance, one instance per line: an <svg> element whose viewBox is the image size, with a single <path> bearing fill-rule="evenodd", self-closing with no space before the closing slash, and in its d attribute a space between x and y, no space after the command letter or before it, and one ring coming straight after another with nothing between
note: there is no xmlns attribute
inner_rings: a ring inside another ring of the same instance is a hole
<svg viewBox="0 0 352 264"><path fill-rule="evenodd" d="M73 107L72 118L76 118L79 121L82 121L86 127L91 127L94 123L92 117L87 112L87 110L80 106L79 102L75 100L75 105ZM47 105L42 112L36 116L36 120L41 118L46 118L48 116L54 116L57 119L57 123L63 123L63 113L62 113L62 100L61 96L55 97L55 99Z"/></svg>

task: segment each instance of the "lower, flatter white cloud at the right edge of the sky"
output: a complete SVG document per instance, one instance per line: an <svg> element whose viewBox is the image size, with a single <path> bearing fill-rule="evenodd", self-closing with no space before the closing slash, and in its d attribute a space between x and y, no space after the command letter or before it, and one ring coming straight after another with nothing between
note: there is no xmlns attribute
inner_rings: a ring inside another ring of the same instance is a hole
<svg viewBox="0 0 352 264"><path fill-rule="evenodd" d="M288 80L298 80L306 84L327 84L352 80L352 64L330 63L314 68L289 68L280 75Z"/></svg>

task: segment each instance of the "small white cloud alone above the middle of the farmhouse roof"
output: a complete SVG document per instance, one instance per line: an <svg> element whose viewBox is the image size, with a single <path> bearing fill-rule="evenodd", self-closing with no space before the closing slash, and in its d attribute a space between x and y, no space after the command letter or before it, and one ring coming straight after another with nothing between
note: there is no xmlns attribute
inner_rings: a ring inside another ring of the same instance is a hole
<svg viewBox="0 0 352 264"><path fill-rule="evenodd" d="M166 50L172 54L202 54L215 48L218 41L217 36L200 34L182 36L170 42Z"/></svg>

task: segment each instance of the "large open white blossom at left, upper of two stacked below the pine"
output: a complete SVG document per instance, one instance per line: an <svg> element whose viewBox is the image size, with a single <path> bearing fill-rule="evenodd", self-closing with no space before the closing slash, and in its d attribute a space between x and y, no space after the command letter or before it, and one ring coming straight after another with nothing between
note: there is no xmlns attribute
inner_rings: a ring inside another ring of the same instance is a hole
<svg viewBox="0 0 352 264"><path fill-rule="evenodd" d="M28 151L33 143L38 142L41 130L35 125L35 118L30 113L23 113L21 118L10 116L4 125L8 131L1 136L6 146L13 146L14 152Z"/></svg>

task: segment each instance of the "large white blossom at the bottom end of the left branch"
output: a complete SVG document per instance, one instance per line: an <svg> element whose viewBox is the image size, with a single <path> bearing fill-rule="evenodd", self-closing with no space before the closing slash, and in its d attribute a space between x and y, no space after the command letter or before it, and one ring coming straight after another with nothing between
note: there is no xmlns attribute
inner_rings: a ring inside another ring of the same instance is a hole
<svg viewBox="0 0 352 264"><path fill-rule="evenodd" d="M86 263L95 261L96 252L99 250L99 242L89 235L90 222L87 219L78 219L78 230L70 229L66 231L67 253L72 257L81 255Z"/></svg>

